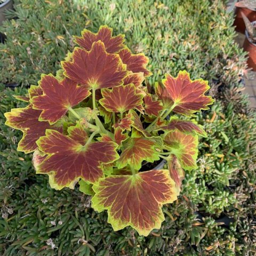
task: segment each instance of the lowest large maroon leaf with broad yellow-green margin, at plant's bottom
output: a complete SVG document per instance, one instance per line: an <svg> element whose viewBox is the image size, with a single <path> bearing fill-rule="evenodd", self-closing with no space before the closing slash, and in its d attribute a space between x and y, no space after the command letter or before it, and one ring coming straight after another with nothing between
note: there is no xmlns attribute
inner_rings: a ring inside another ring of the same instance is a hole
<svg viewBox="0 0 256 256"><path fill-rule="evenodd" d="M168 170L110 176L93 186L92 207L108 211L115 231L131 226L139 235L148 236L164 221L163 204L177 199L174 186Z"/></svg>

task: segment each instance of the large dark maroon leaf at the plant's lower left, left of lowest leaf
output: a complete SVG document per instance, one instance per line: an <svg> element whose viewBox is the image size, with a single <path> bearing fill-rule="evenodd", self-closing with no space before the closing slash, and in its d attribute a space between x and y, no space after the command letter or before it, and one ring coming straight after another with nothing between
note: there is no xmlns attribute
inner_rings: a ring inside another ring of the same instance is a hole
<svg viewBox="0 0 256 256"><path fill-rule="evenodd" d="M77 126L69 132L69 135L63 135L46 130L46 136L37 141L39 149L47 155L38 165L37 173L49 174L50 185L55 189L74 188L79 179L97 183L104 177L102 164L111 163L119 157L116 143L90 142L84 145L85 131Z"/></svg>

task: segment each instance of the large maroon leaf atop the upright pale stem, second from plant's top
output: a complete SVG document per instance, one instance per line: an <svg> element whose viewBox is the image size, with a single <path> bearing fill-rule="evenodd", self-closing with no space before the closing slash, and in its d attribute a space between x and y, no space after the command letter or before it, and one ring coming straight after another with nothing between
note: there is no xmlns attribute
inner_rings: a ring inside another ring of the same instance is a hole
<svg viewBox="0 0 256 256"><path fill-rule="evenodd" d="M115 87L123 83L126 66L118 54L107 53L105 45L94 42L90 51L76 47L72 61L62 61L64 75L87 90Z"/></svg>

